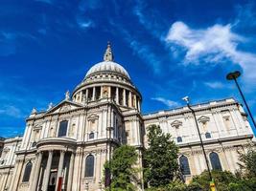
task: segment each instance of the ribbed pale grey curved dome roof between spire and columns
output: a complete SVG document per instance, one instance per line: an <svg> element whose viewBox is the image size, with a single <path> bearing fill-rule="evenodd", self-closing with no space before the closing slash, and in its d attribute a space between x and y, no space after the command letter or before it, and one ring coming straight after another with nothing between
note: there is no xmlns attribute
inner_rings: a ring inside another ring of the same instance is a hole
<svg viewBox="0 0 256 191"><path fill-rule="evenodd" d="M124 67L122 67L120 64L116 62L107 61L107 60L100 62L94 65L93 67L91 67L91 69L85 75L85 78L92 74L99 74L99 73L105 73L105 72L125 75L126 77L128 77L128 79L130 79L128 72L126 71L126 69L124 69Z"/></svg>

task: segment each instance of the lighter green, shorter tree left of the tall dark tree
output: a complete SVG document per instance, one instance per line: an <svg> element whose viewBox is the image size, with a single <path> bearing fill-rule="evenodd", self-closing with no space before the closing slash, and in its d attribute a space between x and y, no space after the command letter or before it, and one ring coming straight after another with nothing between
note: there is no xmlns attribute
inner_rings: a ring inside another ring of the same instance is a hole
<svg viewBox="0 0 256 191"><path fill-rule="evenodd" d="M105 168L110 167L112 191L135 191L132 181L136 181L139 171L134 167L138 159L136 149L132 146L122 145L114 150L113 157L105 162Z"/></svg>

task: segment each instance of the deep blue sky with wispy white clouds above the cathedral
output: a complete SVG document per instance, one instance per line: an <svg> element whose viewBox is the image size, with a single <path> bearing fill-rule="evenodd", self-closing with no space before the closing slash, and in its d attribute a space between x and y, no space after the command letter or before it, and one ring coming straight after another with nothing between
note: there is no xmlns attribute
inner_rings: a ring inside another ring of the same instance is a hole
<svg viewBox="0 0 256 191"><path fill-rule="evenodd" d="M57 104L103 60L106 42L143 96L143 112L235 97L256 117L256 2L2 0L0 137L22 134L33 107Z"/></svg>

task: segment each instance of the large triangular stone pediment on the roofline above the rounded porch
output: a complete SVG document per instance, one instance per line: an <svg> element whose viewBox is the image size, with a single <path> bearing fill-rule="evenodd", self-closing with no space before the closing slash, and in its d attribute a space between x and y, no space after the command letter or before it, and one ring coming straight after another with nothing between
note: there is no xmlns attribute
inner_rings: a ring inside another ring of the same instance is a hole
<svg viewBox="0 0 256 191"><path fill-rule="evenodd" d="M58 105L51 108L46 114L57 114L62 112L67 112L70 110L81 108L82 105L76 102L72 102L69 100L63 100Z"/></svg>

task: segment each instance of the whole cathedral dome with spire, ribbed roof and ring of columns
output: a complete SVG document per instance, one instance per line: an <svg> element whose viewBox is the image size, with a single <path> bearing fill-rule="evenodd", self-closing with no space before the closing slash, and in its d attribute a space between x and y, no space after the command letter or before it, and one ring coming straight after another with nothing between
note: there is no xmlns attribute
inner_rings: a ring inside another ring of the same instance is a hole
<svg viewBox="0 0 256 191"><path fill-rule="evenodd" d="M140 110L142 100L126 69L114 61L109 43L104 60L90 68L72 94L72 100L81 104L97 103L95 101L105 98L114 101L124 110Z"/></svg>

